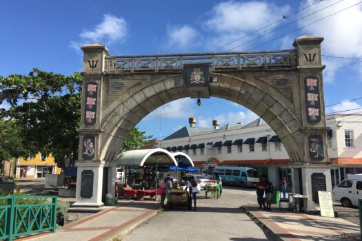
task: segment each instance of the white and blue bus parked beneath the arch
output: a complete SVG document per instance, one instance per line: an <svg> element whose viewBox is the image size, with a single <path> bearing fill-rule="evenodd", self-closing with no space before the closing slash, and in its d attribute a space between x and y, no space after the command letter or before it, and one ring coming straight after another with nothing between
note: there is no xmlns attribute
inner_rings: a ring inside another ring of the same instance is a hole
<svg viewBox="0 0 362 241"><path fill-rule="evenodd" d="M259 182L257 169L250 167L215 167L213 178L216 174L221 177L223 185L256 187Z"/></svg>

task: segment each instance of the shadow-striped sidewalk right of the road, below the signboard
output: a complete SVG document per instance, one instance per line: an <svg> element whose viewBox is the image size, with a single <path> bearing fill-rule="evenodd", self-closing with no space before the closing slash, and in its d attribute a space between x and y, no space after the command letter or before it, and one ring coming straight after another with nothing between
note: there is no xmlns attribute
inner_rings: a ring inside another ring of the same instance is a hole
<svg viewBox="0 0 362 241"><path fill-rule="evenodd" d="M293 213L277 207L272 211L252 206L241 209L261 228L270 231L276 240L360 240L359 226L342 218Z"/></svg>

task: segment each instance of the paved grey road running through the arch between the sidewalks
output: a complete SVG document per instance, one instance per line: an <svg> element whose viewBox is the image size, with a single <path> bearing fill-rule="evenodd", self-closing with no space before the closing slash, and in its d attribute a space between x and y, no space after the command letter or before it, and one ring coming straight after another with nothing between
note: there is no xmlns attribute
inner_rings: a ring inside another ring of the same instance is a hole
<svg viewBox="0 0 362 241"><path fill-rule="evenodd" d="M165 211L122 237L132 240L274 240L239 208L255 202L253 189L224 188L219 199L198 196L197 211Z"/></svg>

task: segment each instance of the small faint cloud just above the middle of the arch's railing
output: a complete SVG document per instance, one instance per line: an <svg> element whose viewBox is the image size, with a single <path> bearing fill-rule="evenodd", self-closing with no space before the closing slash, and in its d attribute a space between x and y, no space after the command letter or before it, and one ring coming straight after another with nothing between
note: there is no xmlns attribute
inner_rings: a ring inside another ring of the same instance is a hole
<svg viewBox="0 0 362 241"><path fill-rule="evenodd" d="M199 33L188 25L167 26L167 43L168 48L172 49L190 49L197 45L197 36Z"/></svg>

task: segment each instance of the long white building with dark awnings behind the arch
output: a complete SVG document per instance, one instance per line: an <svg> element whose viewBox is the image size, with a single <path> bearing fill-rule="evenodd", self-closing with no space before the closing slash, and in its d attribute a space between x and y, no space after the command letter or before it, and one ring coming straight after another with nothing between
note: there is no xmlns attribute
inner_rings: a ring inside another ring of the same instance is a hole
<svg viewBox="0 0 362 241"><path fill-rule="evenodd" d="M268 174L274 185L284 176L291 187L290 158L278 136L261 118L243 125L227 124L213 128L197 127L196 119L159 141L157 147L188 154L200 170L212 166L256 167L259 174ZM362 115L327 116L328 154L332 169L332 185L345 177L362 173ZM211 124L211 123L210 123Z"/></svg>

